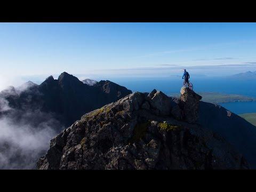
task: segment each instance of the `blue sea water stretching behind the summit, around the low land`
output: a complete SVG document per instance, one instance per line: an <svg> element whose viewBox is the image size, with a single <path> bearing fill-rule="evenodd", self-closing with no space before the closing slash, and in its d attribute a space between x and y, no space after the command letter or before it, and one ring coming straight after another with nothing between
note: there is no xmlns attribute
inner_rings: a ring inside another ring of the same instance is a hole
<svg viewBox="0 0 256 192"><path fill-rule="evenodd" d="M113 79L119 85L127 89L139 92L151 92L160 90L165 94L179 93L183 86L183 79L169 78L130 78ZM256 81L239 81L228 78L191 78L195 92L218 92L226 94L241 94L256 98ZM229 102L221 103L221 106L235 114L256 113L256 102Z"/></svg>

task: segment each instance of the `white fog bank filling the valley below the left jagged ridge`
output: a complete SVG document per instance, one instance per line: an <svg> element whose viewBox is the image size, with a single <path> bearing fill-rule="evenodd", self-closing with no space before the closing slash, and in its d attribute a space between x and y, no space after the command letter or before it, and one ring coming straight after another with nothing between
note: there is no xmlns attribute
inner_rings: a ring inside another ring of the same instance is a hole
<svg viewBox="0 0 256 192"><path fill-rule="evenodd" d="M62 128L52 114L14 109L0 98L0 169L35 169Z"/></svg>

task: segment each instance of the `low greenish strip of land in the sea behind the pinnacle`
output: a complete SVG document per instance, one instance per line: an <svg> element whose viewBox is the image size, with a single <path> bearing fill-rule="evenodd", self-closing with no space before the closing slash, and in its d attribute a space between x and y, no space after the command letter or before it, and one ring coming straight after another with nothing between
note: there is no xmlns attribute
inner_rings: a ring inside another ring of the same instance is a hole
<svg viewBox="0 0 256 192"><path fill-rule="evenodd" d="M225 102L244 102L244 101L256 101L256 98L247 97L238 94L225 94L225 93L215 93L215 92L199 92L202 101L211 103L225 103ZM179 93L170 93L170 97L179 97Z"/></svg>

